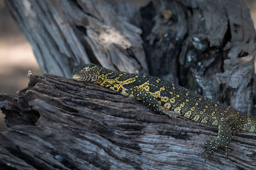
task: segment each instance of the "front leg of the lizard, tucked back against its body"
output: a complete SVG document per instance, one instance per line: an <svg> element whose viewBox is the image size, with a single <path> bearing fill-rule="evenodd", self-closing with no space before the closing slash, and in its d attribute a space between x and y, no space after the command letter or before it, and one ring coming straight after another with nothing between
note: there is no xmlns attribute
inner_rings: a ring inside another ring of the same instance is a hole
<svg viewBox="0 0 256 170"><path fill-rule="evenodd" d="M142 101L145 105L148 106L148 108L156 111L157 113L161 113L162 115L166 115L170 118L175 118L179 116L179 114L175 113L174 111L166 112L162 110L159 106L159 103L157 102L157 99L144 89L133 89L131 91L131 94L132 97L139 101Z"/></svg>

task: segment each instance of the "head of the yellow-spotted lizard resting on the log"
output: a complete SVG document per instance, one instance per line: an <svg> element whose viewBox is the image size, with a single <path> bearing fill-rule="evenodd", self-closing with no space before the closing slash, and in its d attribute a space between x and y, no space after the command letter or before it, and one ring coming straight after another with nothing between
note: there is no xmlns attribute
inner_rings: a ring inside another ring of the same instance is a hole
<svg viewBox="0 0 256 170"><path fill-rule="evenodd" d="M96 82L99 79L100 70L100 66L92 63L75 66L72 78L76 81Z"/></svg>

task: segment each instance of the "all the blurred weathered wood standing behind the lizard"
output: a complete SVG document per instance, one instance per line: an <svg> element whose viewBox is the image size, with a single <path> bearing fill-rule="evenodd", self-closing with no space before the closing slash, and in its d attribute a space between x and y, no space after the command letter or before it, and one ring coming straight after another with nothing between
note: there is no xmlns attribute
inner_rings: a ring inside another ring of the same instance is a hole
<svg viewBox="0 0 256 170"><path fill-rule="evenodd" d="M255 29L241 0L7 0L44 73L94 62L149 73L256 114Z"/></svg>

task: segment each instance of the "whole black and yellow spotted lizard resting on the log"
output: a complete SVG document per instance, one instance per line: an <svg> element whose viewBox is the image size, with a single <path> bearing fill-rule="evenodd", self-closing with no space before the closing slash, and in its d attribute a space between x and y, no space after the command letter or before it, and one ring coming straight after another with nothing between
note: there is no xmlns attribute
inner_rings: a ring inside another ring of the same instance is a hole
<svg viewBox="0 0 256 170"><path fill-rule="evenodd" d="M182 116L202 124L218 126L218 137L204 144L206 159L218 147L225 148L227 155L232 134L239 131L256 132L255 119L246 113L154 76L124 73L95 64L84 64L74 68L72 78L76 81L90 81L124 96L134 97L151 110L170 118Z"/></svg>

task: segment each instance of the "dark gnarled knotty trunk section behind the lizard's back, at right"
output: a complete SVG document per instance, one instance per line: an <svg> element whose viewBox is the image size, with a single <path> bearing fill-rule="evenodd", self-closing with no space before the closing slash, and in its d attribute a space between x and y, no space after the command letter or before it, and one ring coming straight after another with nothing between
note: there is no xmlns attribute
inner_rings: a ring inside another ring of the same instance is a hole
<svg viewBox="0 0 256 170"><path fill-rule="evenodd" d="M246 3L153 2L141 9L150 74L255 116L256 36Z"/></svg>

